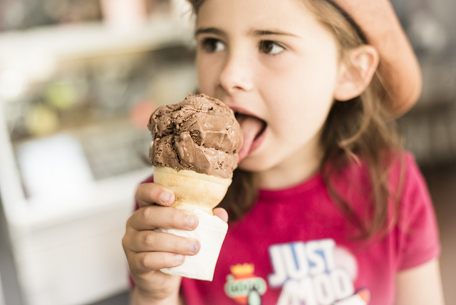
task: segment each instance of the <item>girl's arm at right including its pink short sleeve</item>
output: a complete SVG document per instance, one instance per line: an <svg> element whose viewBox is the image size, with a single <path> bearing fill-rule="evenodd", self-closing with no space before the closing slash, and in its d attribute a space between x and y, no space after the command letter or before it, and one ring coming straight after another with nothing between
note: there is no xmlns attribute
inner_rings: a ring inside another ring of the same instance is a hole
<svg viewBox="0 0 456 305"><path fill-rule="evenodd" d="M397 305L442 305L438 257L440 238L434 205L423 174L411 155L406 157L400 203Z"/></svg>

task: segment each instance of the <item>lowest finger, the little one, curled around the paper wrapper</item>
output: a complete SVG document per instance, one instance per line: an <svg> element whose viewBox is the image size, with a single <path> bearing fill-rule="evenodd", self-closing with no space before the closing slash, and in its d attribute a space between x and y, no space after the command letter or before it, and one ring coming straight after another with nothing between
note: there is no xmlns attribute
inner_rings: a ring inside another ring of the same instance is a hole
<svg viewBox="0 0 456 305"><path fill-rule="evenodd" d="M184 261L184 255L170 252L140 252L130 255L130 259L128 259L133 274L177 267L183 264Z"/></svg>

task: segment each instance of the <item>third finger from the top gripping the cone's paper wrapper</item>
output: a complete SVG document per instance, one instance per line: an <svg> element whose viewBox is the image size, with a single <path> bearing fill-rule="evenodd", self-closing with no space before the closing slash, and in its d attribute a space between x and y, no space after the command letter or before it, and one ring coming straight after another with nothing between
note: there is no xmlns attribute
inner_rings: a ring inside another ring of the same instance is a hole
<svg viewBox="0 0 456 305"><path fill-rule="evenodd" d="M132 235L125 246L133 252L172 252L182 255L195 255L201 244L197 239L181 237L167 232L150 230L140 231Z"/></svg>

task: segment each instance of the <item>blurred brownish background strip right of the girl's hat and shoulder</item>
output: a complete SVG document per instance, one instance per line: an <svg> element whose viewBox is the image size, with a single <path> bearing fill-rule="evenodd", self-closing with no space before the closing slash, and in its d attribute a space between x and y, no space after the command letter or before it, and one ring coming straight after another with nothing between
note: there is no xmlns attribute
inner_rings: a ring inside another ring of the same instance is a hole
<svg viewBox="0 0 456 305"><path fill-rule="evenodd" d="M452 177L456 165L456 1L393 0L423 71L423 93L400 118L407 148L431 182L442 254L446 304L456 304ZM445 175L450 173L450 175ZM433 183L432 183L433 182Z"/></svg>

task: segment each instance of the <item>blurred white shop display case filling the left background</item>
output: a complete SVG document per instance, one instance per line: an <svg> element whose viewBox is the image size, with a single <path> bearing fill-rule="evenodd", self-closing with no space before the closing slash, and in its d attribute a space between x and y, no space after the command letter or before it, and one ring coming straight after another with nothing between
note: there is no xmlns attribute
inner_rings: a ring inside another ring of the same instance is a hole
<svg viewBox="0 0 456 305"><path fill-rule="evenodd" d="M125 291L121 238L151 174L147 120L197 87L190 7L0 6L0 193L24 302L89 304Z"/></svg>

